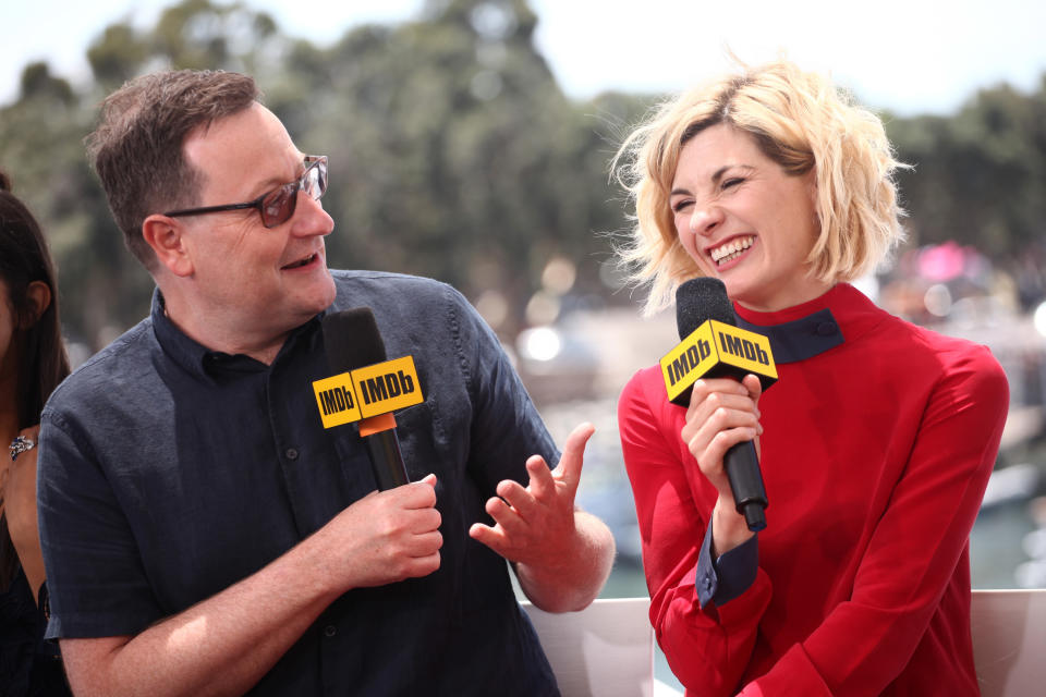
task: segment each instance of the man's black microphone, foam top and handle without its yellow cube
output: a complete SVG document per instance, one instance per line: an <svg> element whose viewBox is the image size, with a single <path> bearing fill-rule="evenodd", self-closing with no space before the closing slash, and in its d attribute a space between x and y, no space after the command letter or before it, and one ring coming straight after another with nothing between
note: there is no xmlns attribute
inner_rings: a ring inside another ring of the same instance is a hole
<svg viewBox="0 0 1046 697"><path fill-rule="evenodd" d="M344 374L385 363L385 342L381 341L378 323L369 307L330 313L324 317L321 325L327 363L333 372ZM402 377L402 371L400 376ZM413 380L410 376L408 380L411 381L410 390L413 392ZM405 384L402 380L401 383ZM396 382L390 381L389 384L396 386ZM341 394L350 407L354 406L351 390L342 391ZM396 417L391 411L361 419L360 436L367 447L367 455L370 457L379 490L386 491L410 481L396 435Z"/></svg>

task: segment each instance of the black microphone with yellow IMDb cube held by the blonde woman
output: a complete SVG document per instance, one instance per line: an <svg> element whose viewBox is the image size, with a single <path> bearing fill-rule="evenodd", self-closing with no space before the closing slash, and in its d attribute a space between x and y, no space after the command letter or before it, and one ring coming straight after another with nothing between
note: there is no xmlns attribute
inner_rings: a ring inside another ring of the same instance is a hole
<svg viewBox="0 0 1046 697"><path fill-rule="evenodd" d="M769 339L737 327L733 305L719 279L700 277L679 286L676 325L682 341L661 358L665 387L673 404L689 405L694 382L703 377L741 380L754 374L764 390L777 381ZM722 462L738 513L744 515L750 530L762 530L769 503L755 443L749 440L732 445Z"/></svg>

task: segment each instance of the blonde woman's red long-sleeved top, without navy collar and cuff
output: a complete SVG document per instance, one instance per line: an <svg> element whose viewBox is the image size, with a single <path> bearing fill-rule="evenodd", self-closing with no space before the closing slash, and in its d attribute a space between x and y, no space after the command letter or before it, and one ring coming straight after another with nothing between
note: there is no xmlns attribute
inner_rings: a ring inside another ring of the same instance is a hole
<svg viewBox="0 0 1046 697"><path fill-rule="evenodd" d="M650 622L688 695L978 695L969 535L1008 387L984 346L839 284L754 325L829 308L844 342L777 366L759 400L769 508L755 583L702 608L694 570L716 489L680 438L659 368L619 404Z"/></svg>

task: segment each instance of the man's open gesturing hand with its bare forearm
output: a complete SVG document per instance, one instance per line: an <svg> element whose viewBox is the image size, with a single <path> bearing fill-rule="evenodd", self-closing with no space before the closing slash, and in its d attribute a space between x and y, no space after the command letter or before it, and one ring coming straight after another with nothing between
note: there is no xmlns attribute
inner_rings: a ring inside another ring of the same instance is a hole
<svg viewBox="0 0 1046 697"><path fill-rule="evenodd" d="M495 526L475 524L469 534L513 562L520 587L548 612L582 610L610 574L615 543L599 518L574 508L591 424L568 437L563 456L549 472L545 460L527 460L526 488L504 480L487 501Z"/></svg>

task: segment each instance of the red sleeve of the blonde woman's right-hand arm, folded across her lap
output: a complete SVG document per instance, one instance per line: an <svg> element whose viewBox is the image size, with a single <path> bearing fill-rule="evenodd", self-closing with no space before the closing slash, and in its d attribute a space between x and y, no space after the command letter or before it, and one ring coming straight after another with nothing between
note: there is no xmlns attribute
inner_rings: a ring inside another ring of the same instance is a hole
<svg viewBox="0 0 1046 697"><path fill-rule="evenodd" d="M968 345L945 358L954 364L922 413L904 473L861 559L850 600L831 609L743 695L879 695L902 671L920 670L913 655L957 577L1009 403L1006 376L987 350ZM962 580L969 597L968 576ZM956 622L954 629L969 636L969 614Z"/></svg>

